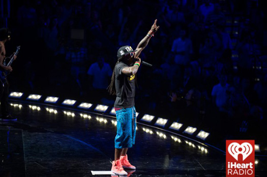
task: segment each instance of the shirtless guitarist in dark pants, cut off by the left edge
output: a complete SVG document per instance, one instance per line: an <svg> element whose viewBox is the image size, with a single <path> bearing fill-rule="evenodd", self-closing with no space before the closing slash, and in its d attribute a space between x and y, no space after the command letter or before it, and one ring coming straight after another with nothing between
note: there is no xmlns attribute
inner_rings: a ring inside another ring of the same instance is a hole
<svg viewBox="0 0 267 177"><path fill-rule="evenodd" d="M4 59L6 57L6 49L5 43L10 41L11 33L8 28L1 28L0 29L0 69L7 70L12 72L11 66L5 66L3 64ZM16 59L16 56L14 56ZM9 103L8 103L8 95L9 95L9 83L6 81L5 83L0 83L0 102L1 102L1 112L2 117L1 121L16 121L16 118L13 118L9 113Z"/></svg>

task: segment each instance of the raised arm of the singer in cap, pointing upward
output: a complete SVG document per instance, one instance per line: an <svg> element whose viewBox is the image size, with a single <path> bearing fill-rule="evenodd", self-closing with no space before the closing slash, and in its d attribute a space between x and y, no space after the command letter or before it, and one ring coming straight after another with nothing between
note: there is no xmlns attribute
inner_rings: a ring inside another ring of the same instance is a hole
<svg viewBox="0 0 267 177"><path fill-rule="evenodd" d="M140 53L142 52L142 50L147 46L147 44L149 44L151 37L154 36L154 33L157 32L159 27L160 26L157 26L157 19L156 19L154 21L154 24L151 26L149 33L147 33L146 36L139 42L139 44L136 48L137 51L135 52L136 57L138 57L140 55Z"/></svg>

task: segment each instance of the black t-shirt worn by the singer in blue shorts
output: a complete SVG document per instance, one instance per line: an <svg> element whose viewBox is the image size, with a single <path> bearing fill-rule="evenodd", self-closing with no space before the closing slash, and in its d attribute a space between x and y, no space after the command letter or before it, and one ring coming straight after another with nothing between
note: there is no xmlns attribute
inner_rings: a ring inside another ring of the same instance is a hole
<svg viewBox="0 0 267 177"><path fill-rule="evenodd" d="M116 100L115 108L131 108L134 106L135 95L135 75L127 76L123 74L123 68L129 67L124 62L119 62L115 66L115 88Z"/></svg>

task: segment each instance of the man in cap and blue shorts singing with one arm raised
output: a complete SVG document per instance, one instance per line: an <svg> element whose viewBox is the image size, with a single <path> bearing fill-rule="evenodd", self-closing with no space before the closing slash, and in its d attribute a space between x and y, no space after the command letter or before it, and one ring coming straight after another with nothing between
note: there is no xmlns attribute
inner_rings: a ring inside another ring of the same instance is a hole
<svg viewBox="0 0 267 177"><path fill-rule="evenodd" d="M140 41L136 50L131 46L123 46L117 51L117 63L114 67L108 91L116 95L114 109L117 119L117 135L115 137L115 159L111 171L119 175L127 175L124 168L135 169L128 161L127 151L135 143L136 111L134 108L136 73L141 59L141 51L147 46L154 33L159 29L157 20L151 30Z"/></svg>

